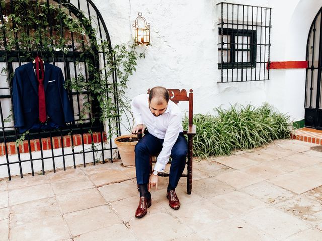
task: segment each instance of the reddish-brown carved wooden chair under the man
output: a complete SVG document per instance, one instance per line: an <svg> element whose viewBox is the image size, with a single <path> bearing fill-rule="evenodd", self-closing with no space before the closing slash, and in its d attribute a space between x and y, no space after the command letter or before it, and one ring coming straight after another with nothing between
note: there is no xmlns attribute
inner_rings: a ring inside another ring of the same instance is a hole
<svg viewBox="0 0 322 241"><path fill-rule="evenodd" d="M189 101L189 111L188 111L188 130L184 130L183 133L188 136L188 153L187 153L187 174L182 174L181 177L187 177L187 193L191 194L192 190L192 138L193 135L196 134L196 126L192 123L192 116L193 116L193 91L190 89L190 93L187 96L187 91L185 89L182 89L181 91L179 89L168 89L169 92L169 99L174 102L175 104L178 104L179 101ZM147 93L150 93L150 89L148 89ZM155 160L159 153L155 153L150 156L150 167L151 167L151 173L152 173L152 162L153 159ZM171 161L169 161L171 163ZM160 173L159 176L162 177L169 177L168 173Z"/></svg>

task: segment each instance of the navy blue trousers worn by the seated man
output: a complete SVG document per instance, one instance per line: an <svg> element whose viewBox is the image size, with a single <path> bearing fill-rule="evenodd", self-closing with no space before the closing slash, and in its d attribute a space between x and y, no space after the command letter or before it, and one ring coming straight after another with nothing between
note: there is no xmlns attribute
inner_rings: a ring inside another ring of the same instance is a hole
<svg viewBox="0 0 322 241"><path fill-rule="evenodd" d="M160 152L163 139L146 132L144 137L135 145L135 169L137 184L147 184L150 178L150 154ZM171 149L171 166L169 184L176 188L186 165L188 143L181 132Z"/></svg>

